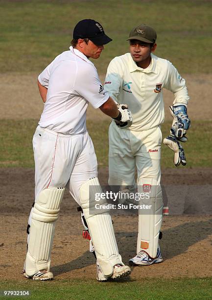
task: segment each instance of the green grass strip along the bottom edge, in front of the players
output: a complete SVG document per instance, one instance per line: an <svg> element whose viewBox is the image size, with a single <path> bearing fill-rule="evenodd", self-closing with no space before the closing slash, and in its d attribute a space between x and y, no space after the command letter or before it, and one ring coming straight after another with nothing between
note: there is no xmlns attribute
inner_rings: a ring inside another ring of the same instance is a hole
<svg viewBox="0 0 212 300"><path fill-rule="evenodd" d="M142 282L97 282L94 279L23 282L1 280L0 290L28 290L25 299L211 299L212 278L143 279ZM2 293L2 292L1 292ZM10 297L9 299L17 299ZM22 297L23 298L23 297ZM6 299L6 297L5 297Z"/></svg>

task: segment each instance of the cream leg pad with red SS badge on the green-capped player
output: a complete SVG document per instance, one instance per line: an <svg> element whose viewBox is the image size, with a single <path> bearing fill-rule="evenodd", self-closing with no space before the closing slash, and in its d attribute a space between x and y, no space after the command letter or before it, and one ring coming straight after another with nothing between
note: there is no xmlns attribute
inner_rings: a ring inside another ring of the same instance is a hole
<svg viewBox="0 0 212 300"><path fill-rule="evenodd" d="M141 178L138 184L138 192L140 193L140 208L137 254L144 250L150 257L155 258L157 256L163 213L161 185L153 178ZM145 194L145 198L142 197L143 194ZM148 205L149 208L144 209L144 205L145 207Z"/></svg>

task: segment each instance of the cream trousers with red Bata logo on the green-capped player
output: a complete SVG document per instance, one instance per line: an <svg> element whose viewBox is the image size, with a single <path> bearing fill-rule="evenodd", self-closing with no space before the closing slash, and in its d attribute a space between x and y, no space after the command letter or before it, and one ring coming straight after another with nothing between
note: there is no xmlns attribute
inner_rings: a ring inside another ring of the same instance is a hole
<svg viewBox="0 0 212 300"><path fill-rule="evenodd" d="M161 180L162 132L121 129L112 122L109 128L109 185L135 185L141 178Z"/></svg>

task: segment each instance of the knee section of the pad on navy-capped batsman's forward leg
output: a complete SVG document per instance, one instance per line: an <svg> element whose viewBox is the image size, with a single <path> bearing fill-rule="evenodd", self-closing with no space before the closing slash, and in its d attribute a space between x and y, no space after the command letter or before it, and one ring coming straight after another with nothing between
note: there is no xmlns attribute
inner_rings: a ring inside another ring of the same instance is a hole
<svg viewBox="0 0 212 300"><path fill-rule="evenodd" d="M86 219L109 212L105 207L107 201L102 199L102 189L97 177L92 177L81 185L79 198Z"/></svg>

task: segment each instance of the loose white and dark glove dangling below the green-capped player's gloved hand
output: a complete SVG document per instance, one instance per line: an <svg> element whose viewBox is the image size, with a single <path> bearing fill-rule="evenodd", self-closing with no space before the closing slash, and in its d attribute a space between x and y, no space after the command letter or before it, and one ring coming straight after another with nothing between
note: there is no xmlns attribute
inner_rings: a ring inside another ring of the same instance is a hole
<svg viewBox="0 0 212 300"><path fill-rule="evenodd" d="M182 164L186 165L186 156L180 142L173 135L169 135L164 139L164 144L167 145L171 150L174 151L174 164L179 166Z"/></svg>

